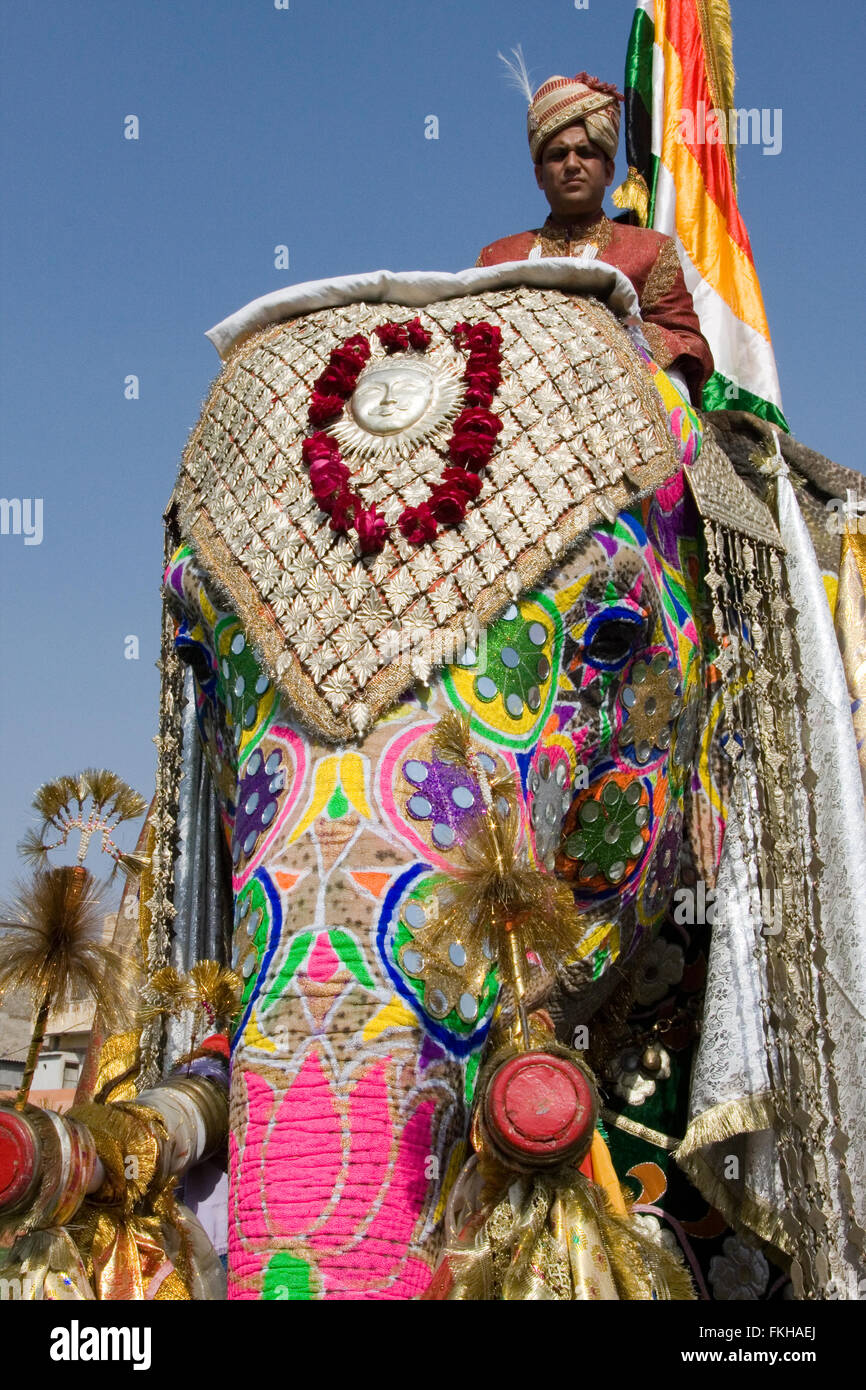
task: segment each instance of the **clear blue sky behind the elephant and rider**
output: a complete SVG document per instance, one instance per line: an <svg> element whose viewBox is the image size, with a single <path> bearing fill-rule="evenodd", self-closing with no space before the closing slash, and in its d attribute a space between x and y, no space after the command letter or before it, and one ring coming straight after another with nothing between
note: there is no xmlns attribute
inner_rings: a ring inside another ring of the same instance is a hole
<svg viewBox="0 0 866 1390"><path fill-rule="evenodd" d="M521 43L535 82L621 85L632 17L630 0L289 4L3 7L0 492L43 499L40 545L0 535L3 895L42 781L96 763L152 794L161 512L218 368L204 329L285 284L457 270L537 225L496 51ZM733 17L737 104L783 111L777 156L740 150L740 202L785 411L863 470L866 19L851 0L733 0Z"/></svg>

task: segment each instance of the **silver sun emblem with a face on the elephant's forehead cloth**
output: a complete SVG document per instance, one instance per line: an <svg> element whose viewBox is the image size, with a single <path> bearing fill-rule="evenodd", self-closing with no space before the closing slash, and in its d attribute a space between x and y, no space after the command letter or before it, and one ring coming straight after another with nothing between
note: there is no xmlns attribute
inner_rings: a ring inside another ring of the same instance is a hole
<svg viewBox="0 0 866 1390"><path fill-rule="evenodd" d="M455 363L435 366L409 353L374 361L359 377L331 434L346 455L406 455L455 418L459 371Z"/></svg>

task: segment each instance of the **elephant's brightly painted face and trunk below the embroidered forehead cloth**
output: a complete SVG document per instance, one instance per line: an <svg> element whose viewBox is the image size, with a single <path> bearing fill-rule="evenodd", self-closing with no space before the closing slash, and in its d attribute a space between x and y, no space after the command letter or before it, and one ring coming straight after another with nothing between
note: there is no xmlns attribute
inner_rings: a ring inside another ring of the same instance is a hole
<svg viewBox="0 0 866 1390"><path fill-rule="evenodd" d="M674 480L345 746L270 684L189 546L171 559L245 979L231 1297L411 1298L430 1280L498 995L484 947L425 941L480 803L435 756L442 714L470 714L485 770L518 787L527 855L574 887L585 930L562 984L584 1013L663 913L702 662L689 534Z"/></svg>

